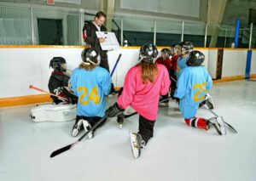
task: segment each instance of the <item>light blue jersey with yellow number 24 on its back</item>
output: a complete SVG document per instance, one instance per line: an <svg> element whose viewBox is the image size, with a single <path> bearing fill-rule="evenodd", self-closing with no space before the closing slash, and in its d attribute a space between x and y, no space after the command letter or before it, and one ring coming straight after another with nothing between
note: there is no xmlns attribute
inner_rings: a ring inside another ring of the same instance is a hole
<svg viewBox="0 0 256 181"><path fill-rule="evenodd" d="M111 88L107 70L97 66L92 71L76 68L71 75L73 93L79 97L78 116L105 116L106 99Z"/></svg>

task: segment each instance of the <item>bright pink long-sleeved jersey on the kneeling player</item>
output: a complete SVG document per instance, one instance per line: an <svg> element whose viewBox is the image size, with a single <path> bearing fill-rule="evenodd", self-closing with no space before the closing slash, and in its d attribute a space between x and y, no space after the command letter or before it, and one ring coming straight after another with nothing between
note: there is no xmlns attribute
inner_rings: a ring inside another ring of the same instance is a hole
<svg viewBox="0 0 256 181"><path fill-rule="evenodd" d="M132 67L125 76L123 93L119 96L118 105L126 109L128 105L148 120L156 120L159 97L166 95L171 85L165 65L157 65L158 74L155 81L143 84L142 68Z"/></svg>

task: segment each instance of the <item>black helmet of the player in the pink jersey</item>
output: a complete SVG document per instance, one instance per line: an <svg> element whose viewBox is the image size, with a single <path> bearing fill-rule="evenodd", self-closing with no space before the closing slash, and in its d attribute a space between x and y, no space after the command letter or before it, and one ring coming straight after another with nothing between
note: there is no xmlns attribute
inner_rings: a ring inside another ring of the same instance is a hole
<svg viewBox="0 0 256 181"><path fill-rule="evenodd" d="M153 63L154 58L156 58L158 55L157 48L154 46L154 44L145 44L140 49L139 54L139 61L147 61L149 63Z"/></svg>

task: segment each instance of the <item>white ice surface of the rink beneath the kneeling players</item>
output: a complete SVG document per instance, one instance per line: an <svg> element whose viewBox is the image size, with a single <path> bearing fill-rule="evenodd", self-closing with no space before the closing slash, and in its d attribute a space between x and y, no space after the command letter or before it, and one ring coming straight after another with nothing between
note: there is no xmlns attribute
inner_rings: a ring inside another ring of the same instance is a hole
<svg viewBox="0 0 256 181"><path fill-rule="evenodd" d="M236 127L225 136L188 127L174 101L160 108L154 138L134 160L129 132L137 132L138 116L116 119L93 139L59 156L52 151L79 139L71 137L74 122L29 119L33 105L0 109L0 180L256 180L256 82L214 84L214 111ZM108 100L112 105L116 97ZM197 116L212 117L206 109Z"/></svg>

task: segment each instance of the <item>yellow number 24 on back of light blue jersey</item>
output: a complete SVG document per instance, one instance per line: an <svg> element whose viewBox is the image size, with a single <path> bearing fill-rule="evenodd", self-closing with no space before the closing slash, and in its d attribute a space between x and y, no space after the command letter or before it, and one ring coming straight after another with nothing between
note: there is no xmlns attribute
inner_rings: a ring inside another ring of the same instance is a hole
<svg viewBox="0 0 256 181"><path fill-rule="evenodd" d="M94 87L94 88L91 89L90 94L89 94L89 99L84 100L84 101L83 101L83 99L84 99L84 97L85 97L85 96L87 95L87 93L88 93L87 88L85 88L85 87L79 87L79 88L77 89L77 91L78 91L78 92L83 91L83 93L82 93L81 96L79 97L79 103L80 103L81 105L88 105L90 100L91 100L91 101L94 101L94 104L96 104L96 105L100 103L100 96L98 95L98 91L97 91L97 88L96 88L96 87Z"/></svg>

